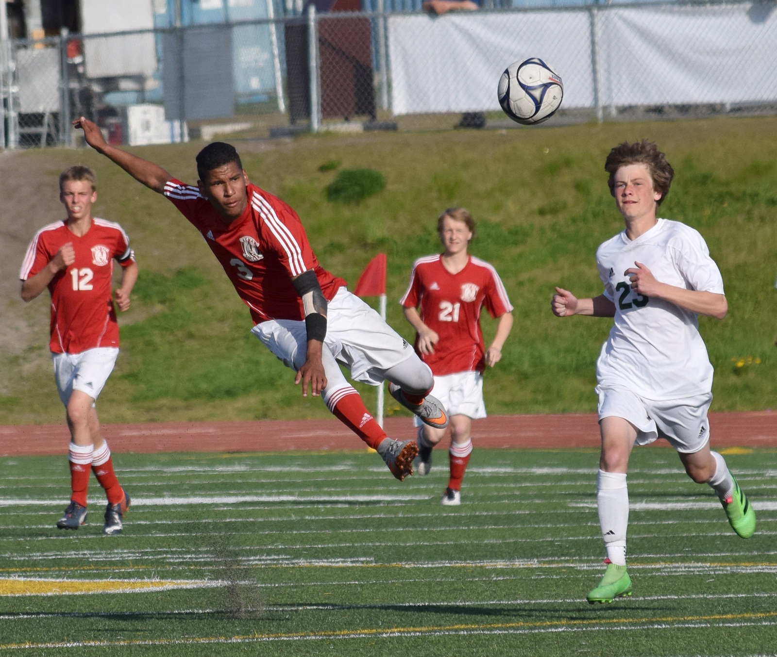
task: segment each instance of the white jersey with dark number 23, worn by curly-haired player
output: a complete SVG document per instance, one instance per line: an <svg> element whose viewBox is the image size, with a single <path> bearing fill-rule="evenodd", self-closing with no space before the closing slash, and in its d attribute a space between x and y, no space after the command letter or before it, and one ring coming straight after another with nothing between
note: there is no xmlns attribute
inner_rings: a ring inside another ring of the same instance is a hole
<svg viewBox="0 0 777 657"><path fill-rule="evenodd" d="M696 313L632 290L625 270L646 266L661 283L723 294L723 278L699 231L659 219L630 240L625 231L599 246L596 263L605 297L615 303L615 324L601 347L601 388L627 388L656 401L709 393L713 366L699 335Z"/></svg>

